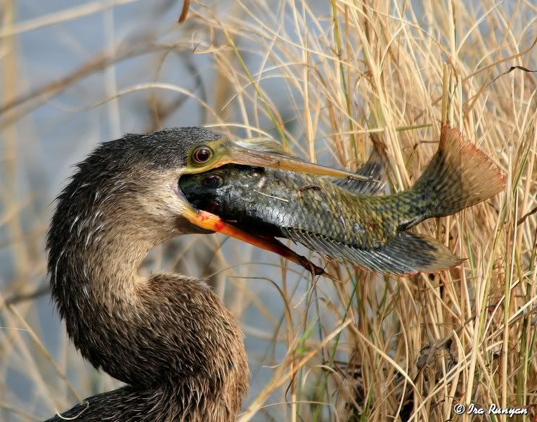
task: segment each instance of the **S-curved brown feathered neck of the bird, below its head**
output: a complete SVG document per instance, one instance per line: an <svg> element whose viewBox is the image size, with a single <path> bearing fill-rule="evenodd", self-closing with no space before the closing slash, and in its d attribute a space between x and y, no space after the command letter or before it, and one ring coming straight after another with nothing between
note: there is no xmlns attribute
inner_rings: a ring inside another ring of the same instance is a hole
<svg viewBox="0 0 537 422"><path fill-rule="evenodd" d="M135 390L168 385L179 413L232 420L248 378L234 317L205 283L138 274L148 251L178 233L135 207L84 205L60 198L48 236L52 295L77 349Z"/></svg>

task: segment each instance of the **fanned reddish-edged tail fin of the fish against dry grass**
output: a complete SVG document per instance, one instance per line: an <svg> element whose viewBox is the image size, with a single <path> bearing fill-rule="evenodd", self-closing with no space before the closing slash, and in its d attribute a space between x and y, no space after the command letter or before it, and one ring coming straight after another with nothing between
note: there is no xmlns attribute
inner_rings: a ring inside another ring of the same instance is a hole
<svg viewBox="0 0 537 422"><path fill-rule="evenodd" d="M477 146L444 124L438 151L412 191L427 201L427 218L455 214L495 196L505 174Z"/></svg>

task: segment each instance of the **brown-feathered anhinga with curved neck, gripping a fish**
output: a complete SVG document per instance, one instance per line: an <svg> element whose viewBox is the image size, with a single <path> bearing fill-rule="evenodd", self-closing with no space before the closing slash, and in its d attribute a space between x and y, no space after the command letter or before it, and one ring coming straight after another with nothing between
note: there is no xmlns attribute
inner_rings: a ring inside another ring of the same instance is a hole
<svg viewBox="0 0 537 422"><path fill-rule="evenodd" d="M235 420L248 381L238 322L200 280L138 274L155 245L212 231L307 263L186 201L182 174L229 162L347 176L287 156L276 142L235 143L203 127L129 134L78 165L48 231L52 297L82 356L126 385L49 421Z"/></svg>

